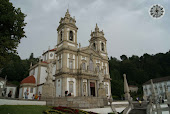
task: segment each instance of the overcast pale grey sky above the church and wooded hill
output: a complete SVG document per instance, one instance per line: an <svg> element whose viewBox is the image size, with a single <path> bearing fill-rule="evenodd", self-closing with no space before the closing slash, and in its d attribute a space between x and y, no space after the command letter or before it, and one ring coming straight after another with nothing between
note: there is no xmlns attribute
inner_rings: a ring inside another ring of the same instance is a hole
<svg viewBox="0 0 170 114"><path fill-rule="evenodd" d="M141 56L170 49L169 0L11 0L27 15L25 32L18 47L22 59L41 56L43 50L57 44L57 27L69 4L78 27L78 43L89 45L91 30L98 24L107 39L108 55ZM153 4L165 9L161 19L153 19L148 11Z"/></svg>

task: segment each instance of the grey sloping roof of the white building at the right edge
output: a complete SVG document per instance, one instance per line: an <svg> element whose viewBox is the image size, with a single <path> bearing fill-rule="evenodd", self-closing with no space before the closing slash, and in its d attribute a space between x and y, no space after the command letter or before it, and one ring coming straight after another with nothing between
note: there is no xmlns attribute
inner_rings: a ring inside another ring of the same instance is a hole
<svg viewBox="0 0 170 114"><path fill-rule="evenodd" d="M170 76L152 79L153 83L170 81ZM151 84L151 80L145 82L143 85Z"/></svg>

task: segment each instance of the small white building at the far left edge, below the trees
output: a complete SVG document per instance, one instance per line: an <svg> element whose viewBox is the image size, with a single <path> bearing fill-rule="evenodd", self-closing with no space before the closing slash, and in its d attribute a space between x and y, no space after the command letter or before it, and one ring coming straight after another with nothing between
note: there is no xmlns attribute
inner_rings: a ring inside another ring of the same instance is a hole
<svg viewBox="0 0 170 114"><path fill-rule="evenodd" d="M11 91L11 98L16 97L17 86L7 82L4 78L0 77L0 96L8 97L8 93Z"/></svg>

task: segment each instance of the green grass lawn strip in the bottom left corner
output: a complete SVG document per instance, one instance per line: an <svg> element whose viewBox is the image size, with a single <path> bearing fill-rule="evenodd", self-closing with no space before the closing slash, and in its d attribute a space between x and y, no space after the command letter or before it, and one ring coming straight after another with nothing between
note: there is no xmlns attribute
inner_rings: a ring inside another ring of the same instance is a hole
<svg viewBox="0 0 170 114"><path fill-rule="evenodd" d="M50 109L50 107L40 105L1 105L0 114L42 114L47 109Z"/></svg>

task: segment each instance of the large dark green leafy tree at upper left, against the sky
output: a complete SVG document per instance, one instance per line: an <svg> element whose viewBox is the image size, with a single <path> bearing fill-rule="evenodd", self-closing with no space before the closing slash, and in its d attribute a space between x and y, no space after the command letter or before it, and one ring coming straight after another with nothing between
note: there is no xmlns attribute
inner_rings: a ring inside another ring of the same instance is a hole
<svg viewBox="0 0 170 114"><path fill-rule="evenodd" d="M10 53L16 53L21 38L26 37L25 14L9 0L0 0L0 70L8 63Z"/></svg>

